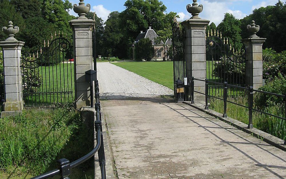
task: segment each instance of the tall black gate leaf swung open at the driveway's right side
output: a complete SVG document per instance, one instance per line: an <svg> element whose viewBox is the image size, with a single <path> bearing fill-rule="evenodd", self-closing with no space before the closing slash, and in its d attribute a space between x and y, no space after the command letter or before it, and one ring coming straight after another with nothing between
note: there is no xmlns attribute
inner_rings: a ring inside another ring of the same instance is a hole
<svg viewBox="0 0 286 179"><path fill-rule="evenodd" d="M180 23L175 20L172 27L173 39L173 68L174 68L174 84L176 80L184 80L185 77L185 32ZM174 94L176 93L174 88Z"/></svg>

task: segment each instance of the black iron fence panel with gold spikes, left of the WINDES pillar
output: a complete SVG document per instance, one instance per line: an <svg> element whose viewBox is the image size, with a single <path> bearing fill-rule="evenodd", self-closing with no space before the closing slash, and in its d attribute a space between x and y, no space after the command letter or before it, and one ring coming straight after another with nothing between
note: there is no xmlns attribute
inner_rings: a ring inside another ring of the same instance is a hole
<svg viewBox="0 0 286 179"><path fill-rule="evenodd" d="M73 101L74 64L71 39L63 34L44 41L33 54L23 53L21 70L25 107Z"/></svg>

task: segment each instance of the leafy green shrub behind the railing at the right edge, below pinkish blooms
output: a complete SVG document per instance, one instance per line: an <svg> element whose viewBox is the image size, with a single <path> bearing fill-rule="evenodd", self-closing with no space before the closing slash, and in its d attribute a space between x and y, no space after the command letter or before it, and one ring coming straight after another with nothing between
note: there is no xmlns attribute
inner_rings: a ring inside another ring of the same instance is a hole
<svg viewBox="0 0 286 179"><path fill-rule="evenodd" d="M278 74L277 77L274 77L274 80L268 81L265 86L259 88L261 91L267 91L270 93L276 93L280 95L286 94L286 77L282 74ZM259 107L268 107L268 106L284 106L285 99L282 97L276 97L274 95L267 95L263 93L255 93L255 103Z"/></svg>

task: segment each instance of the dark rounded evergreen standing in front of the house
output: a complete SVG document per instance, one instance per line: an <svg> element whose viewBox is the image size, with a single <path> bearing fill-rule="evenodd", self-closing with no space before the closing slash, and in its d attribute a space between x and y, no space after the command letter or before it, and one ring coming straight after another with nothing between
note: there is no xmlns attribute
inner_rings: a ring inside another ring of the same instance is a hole
<svg viewBox="0 0 286 179"><path fill-rule="evenodd" d="M137 60L145 59L146 61L151 61L154 53L154 47L149 38L139 40L135 46L135 56Z"/></svg>

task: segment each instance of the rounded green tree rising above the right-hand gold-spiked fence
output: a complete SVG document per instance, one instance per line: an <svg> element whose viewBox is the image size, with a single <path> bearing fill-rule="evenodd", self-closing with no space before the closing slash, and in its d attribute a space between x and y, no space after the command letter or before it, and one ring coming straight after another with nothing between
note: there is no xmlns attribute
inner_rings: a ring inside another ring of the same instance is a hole
<svg viewBox="0 0 286 179"><path fill-rule="evenodd" d="M243 46L241 43L241 21L236 19L232 14L225 13L223 21L217 26L222 36L228 38L229 44L237 50L240 50Z"/></svg>

